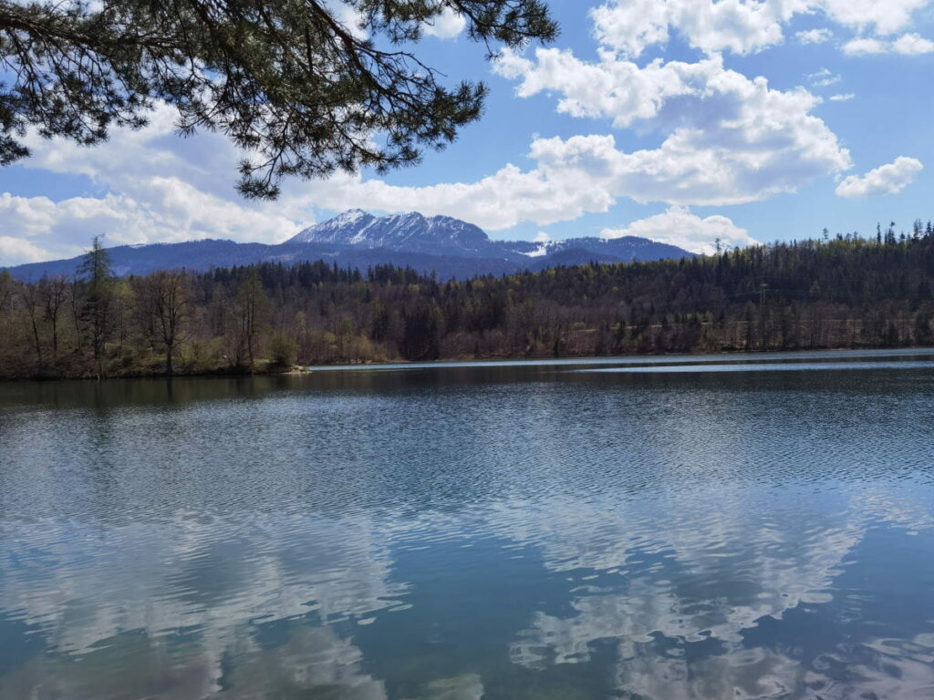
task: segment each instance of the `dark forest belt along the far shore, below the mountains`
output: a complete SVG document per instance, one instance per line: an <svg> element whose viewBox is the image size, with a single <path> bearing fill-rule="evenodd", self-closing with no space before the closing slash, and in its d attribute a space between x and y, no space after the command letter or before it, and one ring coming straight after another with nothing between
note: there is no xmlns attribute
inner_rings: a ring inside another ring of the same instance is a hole
<svg viewBox="0 0 934 700"><path fill-rule="evenodd" d="M438 279L263 263L74 277L0 271L0 376L289 370L296 364L934 344L934 230L694 259Z"/></svg>

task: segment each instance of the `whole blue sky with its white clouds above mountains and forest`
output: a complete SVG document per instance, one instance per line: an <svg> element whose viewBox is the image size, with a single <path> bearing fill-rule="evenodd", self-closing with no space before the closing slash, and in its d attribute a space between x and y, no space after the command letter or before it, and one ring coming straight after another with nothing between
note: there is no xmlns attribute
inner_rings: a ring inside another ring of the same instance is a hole
<svg viewBox="0 0 934 700"><path fill-rule="evenodd" d="M336 0L335 0L336 2ZM708 250L934 217L934 0L554 0L552 45L484 49L444 16L419 46L486 114L384 177L233 190L221 137L147 128L92 149L30 138L0 169L0 265L196 238L275 243L343 209L417 210L494 238L644 235Z"/></svg>

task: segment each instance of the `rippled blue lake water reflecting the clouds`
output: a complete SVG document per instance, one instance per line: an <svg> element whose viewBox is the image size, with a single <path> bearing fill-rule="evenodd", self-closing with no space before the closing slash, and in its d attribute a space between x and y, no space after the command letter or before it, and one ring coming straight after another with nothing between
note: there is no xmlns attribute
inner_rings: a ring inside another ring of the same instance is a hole
<svg viewBox="0 0 934 700"><path fill-rule="evenodd" d="M0 385L0 698L934 697L934 354Z"/></svg>

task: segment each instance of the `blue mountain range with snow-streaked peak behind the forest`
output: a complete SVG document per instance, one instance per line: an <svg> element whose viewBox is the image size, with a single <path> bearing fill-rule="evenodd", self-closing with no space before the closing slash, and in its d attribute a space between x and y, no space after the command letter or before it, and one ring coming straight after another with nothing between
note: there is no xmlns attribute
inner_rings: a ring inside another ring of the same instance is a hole
<svg viewBox="0 0 934 700"><path fill-rule="evenodd" d="M442 279L476 274L543 270L590 261L630 262L693 257L682 248L626 236L570 238L538 243L492 241L474 224L453 217L424 217L417 212L374 217L352 209L278 245L238 244L207 239L177 244L120 245L109 248L115 272L148 274L184 267L193 271L257 262L327 260L340 267L366 269L378 264L408 266ZM74 274L79 258L35 262L9 268L14 277L35 280L44 274Z"/></svg>

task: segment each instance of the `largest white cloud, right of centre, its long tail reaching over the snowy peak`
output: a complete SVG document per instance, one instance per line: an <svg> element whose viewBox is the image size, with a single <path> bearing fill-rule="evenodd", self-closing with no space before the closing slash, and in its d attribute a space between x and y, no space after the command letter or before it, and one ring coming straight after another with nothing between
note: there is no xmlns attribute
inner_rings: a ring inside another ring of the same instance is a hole
<svg viewBox="0 0 934 700"><path fill-rule="evenodd" d="M534 58L506 52L497 68L521 77L520 96L554 91L559 111L667 135L656 148L631 152L610 134L537 138L528 154L531 169L510 163L472 183L420 188L347 178L340 187L306 189L304 203L417 209L495 231L523 220L547 225L605 212L620 198L754 202L850 167L849 152L810 113L819 98L801 89L772 90L764 78L724 69L719 58L644 68L607 53L599 63L558 49L539 49Z"/></svg>

